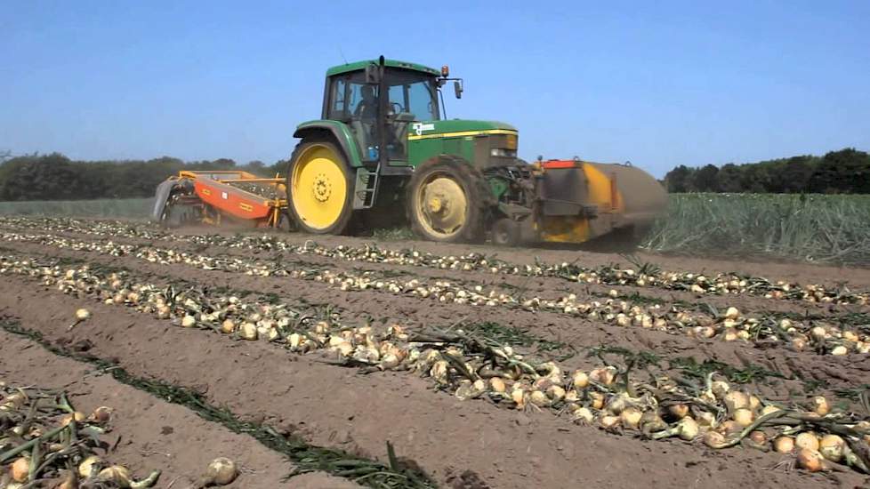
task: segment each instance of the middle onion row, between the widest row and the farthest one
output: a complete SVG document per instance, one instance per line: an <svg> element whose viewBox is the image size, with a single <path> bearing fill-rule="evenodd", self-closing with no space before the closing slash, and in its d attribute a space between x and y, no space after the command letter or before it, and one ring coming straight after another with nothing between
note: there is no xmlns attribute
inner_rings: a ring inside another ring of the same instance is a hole
<svg viewBox="0 0 870 489"><path fill-rule="evenodd" d="M737 308L728 308L713 316L698 310L673 305L635 304L618 299L616 290L603 301L578 301L576 294L555 299L523 297L511 293L488 292L481 285L435 280L427 283L418 278L398 279L383 274L357 271L333 271L325 268L294 269L278 260L245 260L240 257L212 257L199 253L177 252L156 246L92 242L52 235L5 233L4 239L38 242L59 248L88 251L113 256L132 255L150 263L183 264L197 269L238 272L257 277L292 277L313 280L339 287L342 291L379 291L411 295L444 303L474 306L545 310L592 321L605 321L624 327L640 327L667 333L684 334L721 341L765 341L787 345L796 350L843 356L870 352L870 335L831 321L798 321L788 318L747 317Z"/></svg>

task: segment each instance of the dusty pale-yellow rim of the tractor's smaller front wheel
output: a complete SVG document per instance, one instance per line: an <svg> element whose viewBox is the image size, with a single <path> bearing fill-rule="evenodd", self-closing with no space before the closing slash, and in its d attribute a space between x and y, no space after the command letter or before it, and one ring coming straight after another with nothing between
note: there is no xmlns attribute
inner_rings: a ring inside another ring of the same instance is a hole
<svg viewBox="0 0 870 489"><path fill-rule="evenodd" d="M426 232L433 236L455 236L465 224L468 198L462 185L444 174L433 174L417 188L415 212Z"/></svg>

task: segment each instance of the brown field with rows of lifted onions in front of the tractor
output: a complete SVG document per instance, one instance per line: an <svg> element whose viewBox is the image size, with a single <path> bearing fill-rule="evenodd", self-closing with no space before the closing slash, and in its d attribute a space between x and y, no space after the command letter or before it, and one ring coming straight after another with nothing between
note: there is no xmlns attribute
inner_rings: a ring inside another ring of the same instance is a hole
<svg viewBox="0 0 870 489"><path fill-rule="evenodd" d="M10 487L85 451L14 387L155 487L870 485L867 269L5 216L0 277Z"/></svg>

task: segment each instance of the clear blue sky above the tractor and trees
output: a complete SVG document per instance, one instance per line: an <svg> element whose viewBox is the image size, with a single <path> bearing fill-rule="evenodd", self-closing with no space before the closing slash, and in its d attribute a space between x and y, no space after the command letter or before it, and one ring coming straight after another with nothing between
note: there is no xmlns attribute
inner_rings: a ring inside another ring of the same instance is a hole
<svg viewBox="0 0 870 489"><path fill-rule="evenodd" d="M0 0L0 150L271 163L342 52L449 64L527 159L870 148L870 2L517 4Z"/></svg>

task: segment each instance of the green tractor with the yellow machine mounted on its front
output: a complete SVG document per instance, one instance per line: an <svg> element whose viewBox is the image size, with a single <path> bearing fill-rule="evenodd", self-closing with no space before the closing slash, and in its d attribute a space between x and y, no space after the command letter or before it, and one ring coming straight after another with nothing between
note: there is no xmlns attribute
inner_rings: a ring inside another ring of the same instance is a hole
<svg viewBox="0 0 870 489"><path fill-rule="evenodd" d="M287 166L298 227L343 234L398 214L432 241L582 243L635 233L664 207L664 189L631 165L527 164L512 125L444 118L451 81L461 98L447 67L382 56L329 68L322 116L297 126Z"/></svg>

